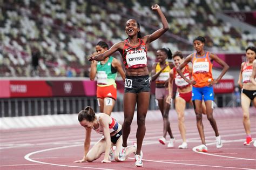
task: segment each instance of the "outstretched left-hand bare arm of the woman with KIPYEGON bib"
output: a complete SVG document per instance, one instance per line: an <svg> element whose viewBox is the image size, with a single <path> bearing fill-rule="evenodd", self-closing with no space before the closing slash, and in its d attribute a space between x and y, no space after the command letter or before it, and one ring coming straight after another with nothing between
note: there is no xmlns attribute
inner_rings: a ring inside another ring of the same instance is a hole
<svg viewBox="0 0 256 170"><path fill-rule="evenodd" d="M105 58L112 55L112 53L116 52L119 49L122 49L123 45L124 45L124 42L116 43L109 50L103 52L102 54L97 55L96 53L93 53L92 55L89 56L88 60L89 61L91 61L91 60L102 61Z"/></svg>

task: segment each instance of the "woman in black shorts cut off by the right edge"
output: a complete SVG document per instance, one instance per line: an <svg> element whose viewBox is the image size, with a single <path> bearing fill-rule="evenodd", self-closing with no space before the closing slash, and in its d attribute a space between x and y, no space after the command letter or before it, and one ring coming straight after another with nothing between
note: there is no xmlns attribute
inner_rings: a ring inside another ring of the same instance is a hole
<svg viewBox="0 0 256 170"><path fill-rule="evenodd" d="M246 141L244 145L250 145L252 142L251 137L251 121L249 108L251 100L253 101L254 106L256 107L256 83L255 83L255 53L256 48L254 46L249 46L245 50L247 62L241 64L241 70L239 74L238 84L242 88L241 92L241 106L243 119L242 123L244 124ZM253 67L254 66L254 67ZM242 83L241 83L242 80Z"/></svg>

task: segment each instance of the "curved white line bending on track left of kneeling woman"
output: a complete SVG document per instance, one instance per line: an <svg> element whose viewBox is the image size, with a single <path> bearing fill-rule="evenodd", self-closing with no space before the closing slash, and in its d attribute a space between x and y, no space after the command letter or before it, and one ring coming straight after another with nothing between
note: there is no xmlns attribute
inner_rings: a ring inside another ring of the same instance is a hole
<svg viewBox="0 0 256 170"><path fill-rule="evenodd" d="M53 151L53 150L56 150L56 149L63 149L63 148L69 148L69 147L76 147L76 146L80 146L80 144L79 145L70 145L70 146L62 146L62 147L54 147L54 148L49 148L49 149L43 149L43 150L40 150L40 151L35 151L35 152L28 153L24 156L24 158L28 161L36 162L36 163L39 163L39 164L47 164L47 165L55 165L55 166L63 166L63 167L87 168L87 169L106 169L106 168L93 168L93 167L71 166L71 165L62 165L62 164L51 164L51 163L48 163L48 162L36 161L36 160L33 160L33 159L29 158L31 155L36 154L36 153L41 153L41 152L46 152L46 151Z"/></svg>

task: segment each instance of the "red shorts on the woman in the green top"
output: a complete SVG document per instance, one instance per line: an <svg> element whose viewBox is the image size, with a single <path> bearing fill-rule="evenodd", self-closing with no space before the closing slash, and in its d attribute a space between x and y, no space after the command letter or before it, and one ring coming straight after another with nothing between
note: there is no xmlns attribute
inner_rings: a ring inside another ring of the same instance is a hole
<svg viewBox="0 0 256 170"><path fill-rule="evenodd" d="M97 86L97 98L104 99L106 97L110 97L114 100L117 99L117 89L114 85L104 87Z"/></svg>

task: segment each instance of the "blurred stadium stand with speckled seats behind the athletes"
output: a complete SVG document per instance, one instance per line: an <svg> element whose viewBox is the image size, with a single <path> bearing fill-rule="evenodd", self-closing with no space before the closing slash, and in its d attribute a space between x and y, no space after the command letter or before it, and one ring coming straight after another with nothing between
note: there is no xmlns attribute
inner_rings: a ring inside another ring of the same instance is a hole
<svg viewBox="0 0 256 170"><path fill-rule="evenodd" d="M256 10L254 0L0 1L0 76L30 76L32 49L40 52L40 77L66 76L68 70L73 77L87 76L90 64L85 57L100 39L110 45L125 39L128 18L137 19L143 35L155 30L159 21L149 5L154 3L163 9L170 31L150 46L149 65L162 46L193 51L197 35L206 37L213 52L243 52L248 45L256 46L255 32L235 28L216 15Z"/></svg>

